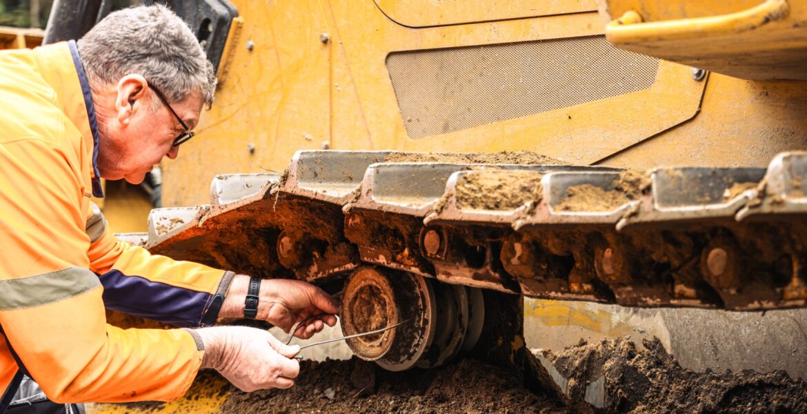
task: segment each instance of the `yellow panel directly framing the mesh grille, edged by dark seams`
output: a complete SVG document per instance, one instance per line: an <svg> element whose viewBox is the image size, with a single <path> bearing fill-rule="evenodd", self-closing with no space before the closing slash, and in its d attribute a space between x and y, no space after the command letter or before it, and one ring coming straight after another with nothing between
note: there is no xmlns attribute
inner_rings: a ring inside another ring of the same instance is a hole
<svg viewBox="0 0 807 414"><path fill-rule="evenodd" d="M339 11L337 11L339 10ZM335 8L337 19L345 7ZM408 151L495 152L529 149L576 164L590 164L663 132L694 116L704 82L692 79L689 68L665 64L649 90L547 111L468 130L410 140L397 109L395 92L384 65L391 51L433 49L469 44L497 44L602 33L596 13L412 31L403 27L351 20L341 27L343 47L374 148ZM346 30L347 29L347 30ZM380 38L385 42L373 41ZM645 102L654 102L653 106ZM608 119L603 114L608 114ZM596 136L598 140L592 141ZM359 149L334 141L334 148Z"/></svg>

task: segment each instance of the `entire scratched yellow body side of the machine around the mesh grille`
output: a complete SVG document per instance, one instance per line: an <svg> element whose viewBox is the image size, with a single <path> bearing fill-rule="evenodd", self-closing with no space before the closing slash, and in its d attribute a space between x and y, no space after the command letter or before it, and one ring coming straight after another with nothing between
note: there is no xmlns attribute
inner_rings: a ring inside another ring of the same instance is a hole
<svg viewBox="0 0 807 414"><path fill-rule="evenodd" d="M587 12L415 29L392 22L374 2L235 3L244 23L228 45L226 80L203 115L199 139L165 163L167 206L207 203L215 174L282 172L296 150L323 144L528 149L634 168L767 165L774 153L807 146L807 118L799 115L807 105L803 82L748 82L715 73L696 81L687 66L665 62L647 90L412 140L385 65L391 52L596 36L604 33L604 21ZM693 14L721 7L706 3L711 6L682 7ZM667 9L660 1L647 5L650 15Z"/></svg>

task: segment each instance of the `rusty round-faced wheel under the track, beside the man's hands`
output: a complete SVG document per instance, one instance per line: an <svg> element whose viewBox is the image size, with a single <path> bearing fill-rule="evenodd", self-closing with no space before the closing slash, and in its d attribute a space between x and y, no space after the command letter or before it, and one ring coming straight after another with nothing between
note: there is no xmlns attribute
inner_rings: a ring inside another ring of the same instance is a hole
<svg viewBox="0 0 807 414"><path fill-rule="evenodd" d="M386 332L347 340L353 353L386 370L415 366L434 337L434 293L415 274L374 268L356 270L342 295L341 327L345 335L368 332L409 320Z"/></svg>

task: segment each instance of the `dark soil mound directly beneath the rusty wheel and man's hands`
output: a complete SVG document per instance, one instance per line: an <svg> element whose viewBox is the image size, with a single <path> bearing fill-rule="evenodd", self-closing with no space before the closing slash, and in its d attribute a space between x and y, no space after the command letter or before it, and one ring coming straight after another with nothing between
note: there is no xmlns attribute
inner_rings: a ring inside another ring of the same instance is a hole
<svg viewBox="0 0 807 414"><path fill-rule="evenodd" d="M373 362L303 361L288 390L232 391L221 412L569 412L518 376L465 359L433 370L390 372Z"/></svg>

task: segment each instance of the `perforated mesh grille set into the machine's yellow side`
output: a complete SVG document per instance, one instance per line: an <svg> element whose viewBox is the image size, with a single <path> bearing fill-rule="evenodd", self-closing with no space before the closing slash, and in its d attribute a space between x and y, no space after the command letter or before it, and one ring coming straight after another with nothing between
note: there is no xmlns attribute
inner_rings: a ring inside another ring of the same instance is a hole
<svg viewBox="0 0 807 414"><path fill-rule="evenodd" d="M658 69L658 60L614 48L604 36L387 56L410 138L643 90Z"/></svg>

